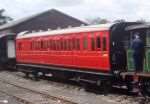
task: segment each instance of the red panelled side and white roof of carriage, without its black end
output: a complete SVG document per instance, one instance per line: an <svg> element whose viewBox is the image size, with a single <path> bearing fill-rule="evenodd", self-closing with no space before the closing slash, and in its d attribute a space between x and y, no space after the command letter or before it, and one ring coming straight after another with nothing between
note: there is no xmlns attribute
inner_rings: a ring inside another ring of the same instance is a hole
<svg viewBox="0 0 150 104"><path fill-rule="evenodd" d="M17 62L110 71L109 26L80 27L17 37Z"/></svg>

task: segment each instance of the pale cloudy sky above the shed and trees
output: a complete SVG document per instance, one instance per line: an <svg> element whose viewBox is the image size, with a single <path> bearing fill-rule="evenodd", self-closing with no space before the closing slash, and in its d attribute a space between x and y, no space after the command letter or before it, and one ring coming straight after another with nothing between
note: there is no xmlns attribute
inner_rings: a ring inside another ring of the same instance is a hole
<svg viewBox="0 0 150 104"><path fill-rule="evenodd" d="M150 21L149 0L0 0L0 8L15 20L54 8L83 21Z"/></svg>

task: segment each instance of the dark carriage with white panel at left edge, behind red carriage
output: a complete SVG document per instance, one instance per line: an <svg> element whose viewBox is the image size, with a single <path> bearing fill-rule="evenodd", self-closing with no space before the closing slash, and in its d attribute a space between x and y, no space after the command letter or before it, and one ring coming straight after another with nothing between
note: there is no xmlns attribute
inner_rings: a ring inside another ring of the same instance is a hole
<svg viewBox="0 0 150 104"><path fill-rule="evenodd" d="M0 68L6 68L9 65L15 66L15 58L16 58L15 57L15 35L13 33L1 34L0 35Z"/></svg>

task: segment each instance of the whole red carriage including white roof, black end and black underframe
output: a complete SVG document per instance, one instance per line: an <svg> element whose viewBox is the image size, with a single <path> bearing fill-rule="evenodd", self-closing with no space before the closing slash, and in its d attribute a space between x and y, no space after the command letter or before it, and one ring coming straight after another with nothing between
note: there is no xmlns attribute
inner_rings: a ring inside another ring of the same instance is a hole
<svg viewBox="0 0 150 104"><path fill-rule="evenodd" d="M90 80L113 76L127 66L124 38L131 22L21 33L16 38L20 69ZM36 69L35 69L36 67Z"/></svg>

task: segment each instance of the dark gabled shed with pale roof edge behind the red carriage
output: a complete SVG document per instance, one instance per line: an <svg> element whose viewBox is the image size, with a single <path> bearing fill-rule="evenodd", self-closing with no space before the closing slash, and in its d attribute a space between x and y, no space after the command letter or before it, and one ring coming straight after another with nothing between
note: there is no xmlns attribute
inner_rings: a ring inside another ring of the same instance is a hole
<svg viewBox="0 0 150 104"><path fill-rule="evenodd" d="M13 33L19 33L26 30L38 31L47 30L48 28L57 29L58 27L66 28L68 26L77 27L80 25L87 24L58 10L51 9L2 25L0 26L0 33L6 30L11 30Z"/></svg>

